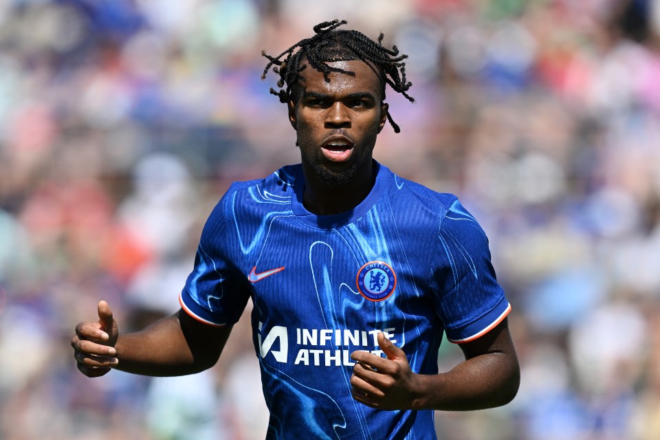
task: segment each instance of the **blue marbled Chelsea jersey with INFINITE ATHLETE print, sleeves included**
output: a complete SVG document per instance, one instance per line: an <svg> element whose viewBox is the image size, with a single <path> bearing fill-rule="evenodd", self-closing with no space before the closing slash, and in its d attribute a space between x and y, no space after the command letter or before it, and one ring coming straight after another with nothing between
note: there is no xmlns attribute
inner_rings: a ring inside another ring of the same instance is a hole
<svg viewBox="0 0 660 440"><path fill-rule="evenodd" d="M456 197L375 168L366 199L330 216L303 206L300 164L234 183L203 229L179 302L232 325L252 298L267 439L434 439L432 410L351 397L350 354L382 355L384 331L412 371L437 373L443 331L469 341L509 313L485 233Z"/></svg>

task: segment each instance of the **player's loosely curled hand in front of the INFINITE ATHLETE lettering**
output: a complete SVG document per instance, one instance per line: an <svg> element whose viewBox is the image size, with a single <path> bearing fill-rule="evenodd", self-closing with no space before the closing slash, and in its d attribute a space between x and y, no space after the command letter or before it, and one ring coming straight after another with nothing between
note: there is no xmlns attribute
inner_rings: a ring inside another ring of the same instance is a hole
<svg viewBox="0 0 660 440"><path fill-rule="evenodd" d="M354 351L351 376L353 399L382 410L411 409L419 397L419 375L412 373L403 350L378 333L378 345L387 359L366 351Z"/></svg>

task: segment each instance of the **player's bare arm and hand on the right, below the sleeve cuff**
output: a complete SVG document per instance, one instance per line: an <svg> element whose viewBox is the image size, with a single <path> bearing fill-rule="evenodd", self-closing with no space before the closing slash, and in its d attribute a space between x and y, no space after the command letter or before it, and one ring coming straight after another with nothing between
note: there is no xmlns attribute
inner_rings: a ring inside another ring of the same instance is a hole
<svg viewBox="0 0 660 440"><path fill-rule="evenodd" d="M447 373L415 374L406 353L378 335L387 359L355 351L353 398L382 410L479 410L502 406L516 396L520 369L507 320L474 342L461 344L465 362Z"/></svg>

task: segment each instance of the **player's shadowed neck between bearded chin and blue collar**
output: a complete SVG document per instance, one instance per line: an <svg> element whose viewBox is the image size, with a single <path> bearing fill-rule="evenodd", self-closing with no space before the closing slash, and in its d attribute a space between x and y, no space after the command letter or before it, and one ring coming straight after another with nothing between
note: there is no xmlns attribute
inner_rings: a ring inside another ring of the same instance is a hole
<svg viewBox="0 0 660 440"><path fill-rule="evenodd" d="M375 184L375 166L373 161L367 161L347 184L338 186L320 181L314 170L303 164L305 176L305 192L303 205L309 212L317 215L334 215L347 212L363 201Z"/></svg>

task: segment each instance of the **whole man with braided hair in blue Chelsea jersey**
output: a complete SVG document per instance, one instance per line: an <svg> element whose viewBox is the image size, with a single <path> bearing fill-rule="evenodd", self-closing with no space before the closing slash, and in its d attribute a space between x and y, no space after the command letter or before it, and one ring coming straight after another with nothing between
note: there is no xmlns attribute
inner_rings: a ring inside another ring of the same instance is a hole
<svg viewBox="0 0 660 440"><path fill-rule="evenodd" d="M321 23L269 58L302 163L237 182L201 235L181 310L118 333L107 303L72 340L78 369L184 375L217 362L252 298L268 439L434 438L433 410L507 404L519 367L487 239L453 195L372 158L396 47ZM286 87L285 87L286 86ZM438 373L443 331L465 362Z"/></svg>

